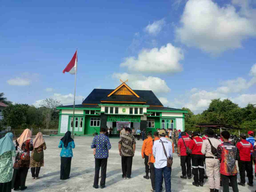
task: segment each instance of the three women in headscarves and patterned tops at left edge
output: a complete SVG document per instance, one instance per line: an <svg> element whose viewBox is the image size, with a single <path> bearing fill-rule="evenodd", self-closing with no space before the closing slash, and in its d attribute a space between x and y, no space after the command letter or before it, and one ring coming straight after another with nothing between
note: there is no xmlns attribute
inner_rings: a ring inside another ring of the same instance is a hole
<svg viewBox="0 0 256 192"><path fill-rule="evenodd" d="M12 133L7 133L0 139L1 192L11 192L12 189L25 190L29 168L31 168L32 179L38 179L40 168L44 166L43 150L46 150L46 144L41 132L36 135L34 142L29 129L24 130L14 142L13 137ZM30 151L32 151L31 156ZM13 165L12 157L15 157Z"/></svg>

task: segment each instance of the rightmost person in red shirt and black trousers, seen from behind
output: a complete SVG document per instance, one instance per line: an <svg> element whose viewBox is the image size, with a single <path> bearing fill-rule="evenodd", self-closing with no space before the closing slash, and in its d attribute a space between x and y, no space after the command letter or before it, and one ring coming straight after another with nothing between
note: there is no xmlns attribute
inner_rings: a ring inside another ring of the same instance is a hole
<svg viewBox="0 0 256 192"><path fill-rule="evenodd" d="M240 160L238 161L238 168L241 182L238 182L238 185L245 186L245 171L248 177L248 185L253 187L253 169L251 162L251 153L253 152L253 146L250 142L246 140L246 135L240 134L240 142L236 144Z"/></svg>

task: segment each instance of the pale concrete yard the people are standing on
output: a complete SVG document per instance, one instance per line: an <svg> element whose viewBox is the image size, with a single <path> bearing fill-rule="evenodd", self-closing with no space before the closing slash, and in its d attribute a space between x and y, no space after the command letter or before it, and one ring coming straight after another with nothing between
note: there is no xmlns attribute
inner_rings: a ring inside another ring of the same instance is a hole
<svg viewBox="0 0 256 192"><path fill-rule="evenodd" d="M26 180L27 192L150 192L151 182L143 178L145 175L144 160L141 157L142 140L136 140L136 153L132 165L132 179L122 179L121 157L118 152L118 138L111 138L112 149L110 150L107 167L106 188L92 188L94 180L94 156L90 148L93 137L76 137L76 148L73 149L70 179L60 180L60 137L45 138L47 150L44 152L44 167L41 168L40 179L32 180L29 170ZM172 192L208 192L209 186L205 179L204 187L192 185L193 179L180 179L180 159L174 154L172 166ZM238 178L239 175L238 175ZM246 182L247 182L246 178ZM254 192L254 187L239 186L240 192ZM222 191L222 188L221 190ZM232 191L232 188L230 188Z"/></svg>

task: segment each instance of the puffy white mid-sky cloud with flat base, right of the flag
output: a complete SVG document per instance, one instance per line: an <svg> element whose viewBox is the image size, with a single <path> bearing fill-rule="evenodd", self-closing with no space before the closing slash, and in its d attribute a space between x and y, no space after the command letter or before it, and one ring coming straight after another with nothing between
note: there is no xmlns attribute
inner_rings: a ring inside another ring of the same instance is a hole
<svg viewBox="0 0 256 192"><path fill-rule="evenodd" d="M128 70L137 72L176 73L182 71L180 61L183 59L182 50L168 43L160 49L144 49L138 54L138 58L125 58L120 66L128 67Z"/></svg>

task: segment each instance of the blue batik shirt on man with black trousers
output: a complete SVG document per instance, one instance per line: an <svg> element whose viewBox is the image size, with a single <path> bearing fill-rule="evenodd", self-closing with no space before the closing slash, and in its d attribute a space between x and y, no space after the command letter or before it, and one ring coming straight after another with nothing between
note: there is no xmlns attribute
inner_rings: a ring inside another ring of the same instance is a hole
<svg viewBox="0 0 256 192"><path fill-rule="evenodd" d="M96 159L108 158L108 150L111 149L109 138L104 134L96 135L92 140L91 148L96 148Z"/></svg>

